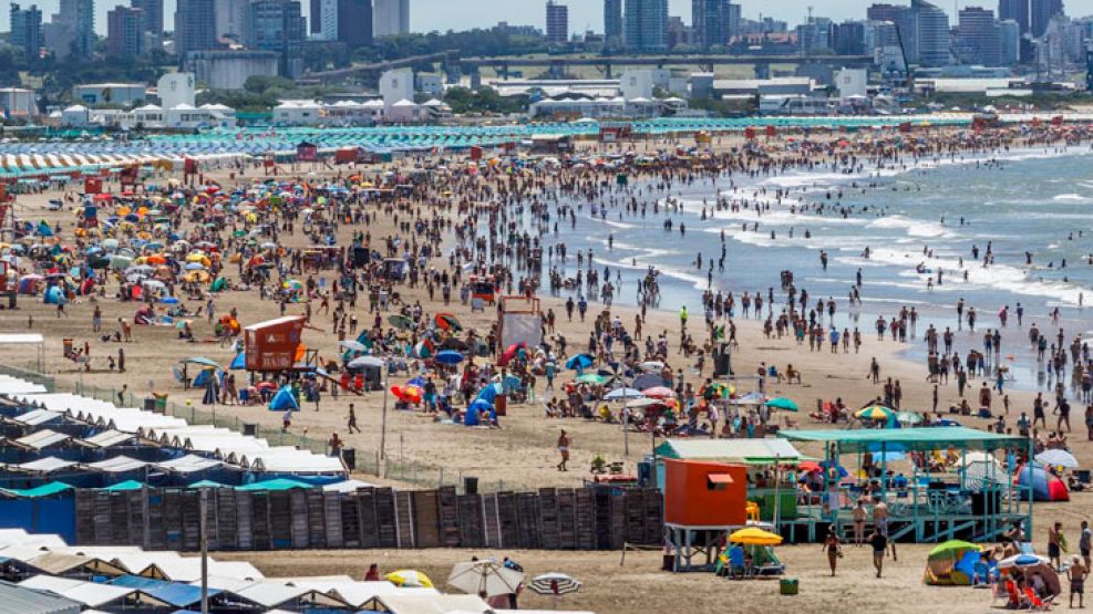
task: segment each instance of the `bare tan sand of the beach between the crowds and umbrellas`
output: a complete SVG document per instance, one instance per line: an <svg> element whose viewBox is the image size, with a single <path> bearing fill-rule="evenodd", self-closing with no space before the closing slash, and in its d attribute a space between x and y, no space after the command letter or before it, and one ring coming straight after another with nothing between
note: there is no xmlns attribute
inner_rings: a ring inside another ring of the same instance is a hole
<svg viewBox="0 0 1093 614"><path fill-rule="evenodd" d="M739 141L724 139L716 146L729 148ZM658 144L646 144L646 150ZM662 145L662 144L661 144ZM210 171L207 179L215 179L226 188L234 185L245 185L249 177L231 178L229 169ZM300 165L286 169L287 176L308 177L321 180L338 175L344 175L346 169L331 170L321 165ZM368 175L375 169L364 170ZM252 175L252 171L248 173ZM156 181L166 180L166 176L156 177ZM109 186L113 188L116 186ZM50 210L50 199L61 196L59 192L20 195L16 214L22 220L45 220L54 228L60 225L59 235L63 240L71 238L74 225L74 211L71 206L64 210ZM468 197L467 197L468 198ZM399 212L402 221L406 219L405 208L412 207L427 211L429 216L439 214L458 221L454 208L426 209L426 205L400 204ZM374 241L389 235L399 233L393 211L384 214L374 209L375 221L367 228L346 225L338 231L339 244L351 241L353 232L367 230ZM450 239L446 237L446 239ZM282 233L279 244L286 248L305 248L311 244L310 239L302 232ZM450 244L450 243L446 243ZM445 252L446 253L446 252ZM439 263L440 261L437 261ZM730 261L731 267L731 261ZM236 277L235 267L225 269L227 278ZM328 270L317 273L332 281L337 271ZM776 283L776 280L771 280ZM107 287L107 295L112 295L116 283ZM400 287L399 291L408 304L420 301L426 312L435 312L440 308L437 301L430 302L429 293L423 285L416 289ZM697 292L695 292L697 294ZM566 295L551 296L540 292L542 308L550 309L557 314L557 333L565 335L569 342L570 353L582 351L587 345L590 323L601 310L608 309L598 302L591 302L587 321L581 323L578 318L567 321L565 313ZM219 314L237 310L240 323L246 326L264 320L281 315L279 304L271 300L261 300L254 291L228 291L215 295L216 311ZM775 305L775 313L783 306ZM204 301L186 301L196 308ZM371 325L372 314L368 313L365 301L360 301L354 314L363 327ZM174 403L185 406L187 403L198 410L209 412L210 407L202 405L200 389L186 391L175 381L172 368L181 361L192 356L206 356L221 365L230 363L235 353L227 345L218 343L214 337L214 322L204 316L195 318L193 329L195 342L178 339L174 326L133 326L132 342L102 341L91 332L92 311L95 305L102 310L103 327L106 333L113 332L118 319L133 321L134 311L140 302L121 302L114 299L92 301L91 296L76 296L65 305L63 315L59 315L53 305L43 304L41 298L20 296L17 311L0 311L0 330L3 332L40 332L45 336L47 374L56 378L61 389L73 389L81 386L84 389L97 388L102 394L111 391L114 394L125 387L126 404L140 403L151 393L169 395ZM702 334L702 314L695 301L689 330ZM162 309L162 308L161 308ZM287 314L303 314L303 303L287 305ZM457 315L467 327L486 331L496 320L491 310L472 312L467 305L453 301L445 311ZM765 309L765 308L764 308ZM337 360L338 336L330 316L318 312L318 302L312 302L313 327L306 330L303 342L310 348L317 348L323 360ZM635 321L639 310L633 306L612 305L609 308L611 318L618 315L628 325ZM390 312L383 313L385 319ZM953 315L955 325L956 316ZM787 365L801 372L801 383L769 381L769 396L786 396L797 402L801 410L797 413L777 413L775 420L783 428L828 428L831 425L821 424L810 417L810 412L822 400L842 398L848 407L857 408L883 395L881 384L888 377L899 381L903 398L901 407L914 410L929 410L932 406L934 385L927 382L926 368L922 364L911 362L901 356L910 344L921 345L922 330L908 343L893 342L889 339L878 341L876 334L869 331L869 323L863 321L862 346L858 352L852 347L848 353L842 350L832 353L826 345L822 351L811 352L807 344L798 345L790 336L783 339L767 337L763 331L762 320L744 320L736 318L736 339L739 348L732 354L732 364L736 374L738 391L754 389L753 374L761 364L776 365L784 372ZM385 325L385 324L384 324ZM688 382L700 384L709 375L707 371L697 373L693 370L694 360L684 358L678 350L680 321L674 311L650 310L643 323L643 335L653 339L661 332L671 340L671 352L668 364L673 368L682 368ZM967 331L965 342L978 339ZM80 347L89 344L91 368L85 371L63 356L63 340L73 340ZM125 372L120 373L107 367L107 356L116 360L118 351L124 351ZM880 383L874 384L869 374L872 360L880 365ZM481 358L480 358L481 360ZM32 367L34 356L23 347L0 347L0 363ZM565 381L571 375L561 373L558 381ZM396 383L392 381L392 383ZM980 388L981 379L971 379L966 397L975 404L975 395ZM990 385L990 383L988 383ZM386 414L386 457L389 465L396 467L386 476L375 476L370 472L358 472L354 477L375 483L411 485L444 480L455 483L462 477L474 476L480 479L483 490L537 489L542 487L577 487L590 477L588 469L596 456L602 456L608 461L625 461L626 472L636 472L637 462L648 454L654 441L648 434L630 433L629 455L623 452L623 433L618 424L604 424L599 420L584 418L549 418L546 417L543 402L549 398L544 389L544 381L539 378L535 391L536 400L526 404L509 404L507 415L499 418L499 428L467 428L458 425L435 422L430 414L422 412L404 412L393 409L393 399ZM1031 415L1034 392L1028 389L1007 391L1010 399L1010 413L1006 416L1012 425L1021 412ZM957 394L955 378L948 385L939 387L938 407L944 412L950 405L957 405L961 397ZM355 405L358 425L362 433L347 433L347 417L350 403ZM381 443L383 395L379 392L355 396L342 393L337 398L324 394L318 407L305 404L302 410L293 418L291 433L327 440L334 433L346 441L347 447L354 448L359 465L371 467L378 458ZM996 405L996 407L1000 407ZM1075 404L1077 407L1077 404ZM237 418L239 422L257 423L264 434L276 437L281 427L281 414L270 412L262 405L239 406L217 405L218 416ZM990 420L976 417L960 417L966 426L984 428ZM1053 422L1049 416L1049 424ZM1093 445L1085 441L1084 425L1081 412L1076 410L1073 418L1073 433L1070 437L1070 448L1083 467L1093 466ZM1053 425L1051 425L1053 428ZM556 441L561 429L570 439L570 471L561 472L556 468L558 454ZM813 456L823 456L818 447L802 446L802 451ZM909 468L909 466L908 466ZM399 471L402 471L401 473ZM434 479L435 478L435 479ZM1064 523L1064 530L1076 542L1079 521L1084 518L1091 502L1087 492L1072 495L1072 501L1061 504L1037 506L1038 520L1034 525L1033 541L1038 549L1044 548L1045 530L1049 519L1059 519ZM660 553L643 552L628 553L625 565L620 565L618 552L504 552L504 553L472 553L467 551L368 551L368 552L292 552L292 553L231 553L223 559L245 559L255 562L268 575L305 575L305 574L341 574L348 573L360 576L369 562L378 562L386 570L414 568L425 571L434 579L444 577L453 562L468 559L472 554L512 555L519 560L528 573L537 574L547 571L563 571L585 581L585 590L578 595L566 597L557 604L544 597L534 595L522 600L522 606L551 608L555 605L563 608L594 610L597 612L635 612L669 610L685 603L689 610L695 612L712 612L715 610L752 611L752 610L797 610L801 612L833 612L849 608L863 608L877 612L910 613L910 612L983 612L989 610L989 591L966 589L937 589L922 584L922 569L926 553L930 547L901 545L898 562L888 561L885 577L872 577L872 564L866 548L847 548L845 560L841 563L837 577L827 577L826 559L821 547L798 545L781 549L780 555L786 563L787 575L801 581L801 595L797 597L781 597L777 595L776 582L741 582L730 583L716 579L712 574L672 575L660 572Z"/></svg>

